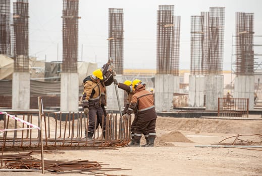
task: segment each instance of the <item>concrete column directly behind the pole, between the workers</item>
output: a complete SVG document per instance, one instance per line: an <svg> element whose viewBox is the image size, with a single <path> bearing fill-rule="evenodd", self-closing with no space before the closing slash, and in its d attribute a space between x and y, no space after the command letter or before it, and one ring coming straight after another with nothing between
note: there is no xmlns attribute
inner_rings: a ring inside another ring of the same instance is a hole
<svg viewBox="0 0 262 176"><path fill-rule="evenodd" d="M124 77L121 74L116 75L115 77L118 82L124 82ZM118 101L117 101L117 94L115 89L115 84L112 83L109 86L106 86L107 89L107 109L108 110L119 110L118 107ZM121 109L124 107L124 91L122 89L119 89L117 87L118 95L119 95L119 101L121 105Z"/></svg>

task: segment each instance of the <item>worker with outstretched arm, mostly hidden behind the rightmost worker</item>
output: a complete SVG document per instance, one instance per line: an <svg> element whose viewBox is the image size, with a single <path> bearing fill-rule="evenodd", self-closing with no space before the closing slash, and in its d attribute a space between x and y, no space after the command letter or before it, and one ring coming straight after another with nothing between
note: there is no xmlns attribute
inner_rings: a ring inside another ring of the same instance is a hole
<svg viewBox="0 0 262 176"><path fill-rule="evenodd" d="M137 79L138 80L138 79ZM139 80L141 82L141 80ZM124 83L118 82L116 79L114 79L114 83L118 85L118 88L126 91L128 98L127 98L127 103L126 106L122 112L122 115L126 114L127 109L129 108L129 105L131 103L132 97L134 95L133 92L133 88L132 88L132 81L131 80L125 80ZM129 146L133 146L134 145L134 135L135 135L135 126L136 126L136 122L137 122L137 109L134 109L134 114L135 114L135 118L131 124L131 142L128 144Z"/></svg>

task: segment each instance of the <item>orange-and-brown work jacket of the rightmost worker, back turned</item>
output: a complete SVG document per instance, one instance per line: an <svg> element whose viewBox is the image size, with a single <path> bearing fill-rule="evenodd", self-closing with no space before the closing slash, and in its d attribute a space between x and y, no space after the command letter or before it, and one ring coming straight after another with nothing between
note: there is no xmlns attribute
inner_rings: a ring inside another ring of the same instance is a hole
<svg viewBox="0 0 262 176"><path fill-rule="evenodd" d="M146 122L157 118L153 94L146 91L143 84L137 85L127 113L132 113L135 108L137 108L137 118L140 121Z"/></svg>

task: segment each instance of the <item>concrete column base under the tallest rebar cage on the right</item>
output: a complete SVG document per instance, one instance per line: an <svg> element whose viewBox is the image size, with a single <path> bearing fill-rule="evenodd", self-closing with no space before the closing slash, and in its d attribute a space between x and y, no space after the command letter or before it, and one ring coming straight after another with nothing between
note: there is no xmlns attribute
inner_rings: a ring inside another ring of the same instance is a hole
<svg viewBox="0 0 262 176"><path fill-rule="evenodd" d="M218 110L218 98L223 97L223 83L223 75L206 76L205 110Z"/></svg>

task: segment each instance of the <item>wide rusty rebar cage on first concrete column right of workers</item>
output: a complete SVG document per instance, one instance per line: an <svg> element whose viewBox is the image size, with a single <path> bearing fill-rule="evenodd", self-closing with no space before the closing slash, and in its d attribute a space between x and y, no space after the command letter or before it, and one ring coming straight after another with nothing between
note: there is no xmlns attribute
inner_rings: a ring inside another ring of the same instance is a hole
<svg viewBox="0 0 262 176"><path fill-rule="evenodd" d="M174 6L159 6L157 22L156 73L178 76L180 17L174 16Z"/></svg>

